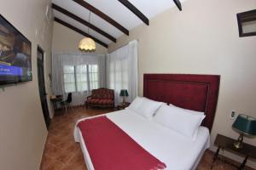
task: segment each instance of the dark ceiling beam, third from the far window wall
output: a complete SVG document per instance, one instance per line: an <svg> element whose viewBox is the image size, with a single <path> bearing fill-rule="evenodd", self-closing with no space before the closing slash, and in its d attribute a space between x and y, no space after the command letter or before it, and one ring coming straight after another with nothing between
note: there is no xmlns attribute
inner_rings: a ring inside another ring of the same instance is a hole
<svg viewBox="0 0 256 170"><path fill-rule="evenodd" d="M127 36L129 36L129 31L124 26L121 26L118 22L116 22L115 20L110 18L107 14L102 13L102 11L100 11L99 9L97 9L97 8L93 7L92 5L90 5L90 3L86 3L84 0L73 0L73 1L75 3L79 3L79 5L81 5L82 7L87 8L92 13L98 15L103 20L106 20L109 24L111 24L112 26L114 26L117 29L119 29L119 31L122 31Z"/></svg>

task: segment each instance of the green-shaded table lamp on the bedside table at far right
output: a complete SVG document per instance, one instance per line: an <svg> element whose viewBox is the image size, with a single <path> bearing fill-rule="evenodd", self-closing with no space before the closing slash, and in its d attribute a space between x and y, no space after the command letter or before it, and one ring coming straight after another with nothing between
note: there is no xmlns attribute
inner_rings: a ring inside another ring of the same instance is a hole
<svg viewBox="0 0 256 170"><path fill-rule="evenodd" d="M236 149L242 148L243 136L255 136L256 135L256 119L252 116L239 114L232 127L240 133L239 138L234 143Z"/></svg>

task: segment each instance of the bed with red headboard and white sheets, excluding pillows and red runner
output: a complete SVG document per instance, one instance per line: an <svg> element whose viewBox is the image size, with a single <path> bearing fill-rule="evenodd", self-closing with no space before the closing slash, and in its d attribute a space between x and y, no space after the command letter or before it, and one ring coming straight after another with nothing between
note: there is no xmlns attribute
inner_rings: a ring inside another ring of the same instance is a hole
<svg viewBox="0 0 256 170"><path fill-rule="evenodd" d="M158 123L148 121L128 109L114 111L105 116L152 156L164 162L166 169L195 169L210 144L209 133L218 101L219 79L216 75L144 75L144 97L205 113L206 117L198 128L195 141L186 139ZM77 126L74 129L74 139L80 143L87 168L94 169L82 133Z"/></svg>

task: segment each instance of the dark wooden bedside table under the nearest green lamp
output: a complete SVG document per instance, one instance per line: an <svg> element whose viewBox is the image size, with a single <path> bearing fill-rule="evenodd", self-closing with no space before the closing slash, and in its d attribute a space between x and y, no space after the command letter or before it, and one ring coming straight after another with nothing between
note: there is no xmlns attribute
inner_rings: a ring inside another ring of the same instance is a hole
<svg viewBox="0 0 256 170"><path fill-rule="evenodd" d="M217 135L217 137L214 141L214 145L218 146L218 150L216 150L215 155L213 157L212 166L213 166L214 161L216 161L216 159L218 158L218 152L220 149L228 150L236 155L245 157L241 163L241 166L237 167L237 169L239 169L239 170L244 169L244 167L247 163L248 157L252 157L252 158L256 159L256 146L243 143L243 147L241 149L236 149L235 146L233 145L234 142L236 142L236 139L230 139L229 137L226 137L221 134Z"/></svg>

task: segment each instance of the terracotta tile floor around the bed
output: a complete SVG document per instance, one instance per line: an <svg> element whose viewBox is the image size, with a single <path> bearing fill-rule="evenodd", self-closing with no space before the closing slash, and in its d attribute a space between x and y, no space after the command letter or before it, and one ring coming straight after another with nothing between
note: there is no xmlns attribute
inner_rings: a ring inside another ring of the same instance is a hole
<svg viewBox="0 0 256 170"><path fill-rule="evenodd" d="M67 115L55 116L49 126L49 134L44 147L41 170L86 170L84 156L79 143L73 140L73 128L79 118L95 116L110 110L86 110L85 107L68 109ZM212 151L207 150L197 170L211 169ZM229 164L216 161L213 170L235 170ZM251 168L246 168L252 170Z"/></svg>

